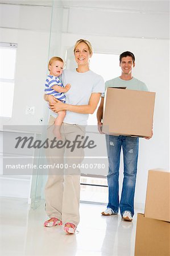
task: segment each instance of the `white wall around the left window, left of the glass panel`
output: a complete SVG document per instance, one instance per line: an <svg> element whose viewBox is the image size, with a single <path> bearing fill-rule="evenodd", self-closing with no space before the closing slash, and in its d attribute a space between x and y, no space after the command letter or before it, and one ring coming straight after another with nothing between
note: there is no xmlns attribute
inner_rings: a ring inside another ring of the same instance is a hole
<svg viewBox="0 0 170 256"><path fill-rule="evenodd" d="M1 4L0 10L0 42L18 44L13 116L1 118L1 125L39 125L45 104L52 9ZM35 115L26 115L26 106L35 106Z"/></svg>

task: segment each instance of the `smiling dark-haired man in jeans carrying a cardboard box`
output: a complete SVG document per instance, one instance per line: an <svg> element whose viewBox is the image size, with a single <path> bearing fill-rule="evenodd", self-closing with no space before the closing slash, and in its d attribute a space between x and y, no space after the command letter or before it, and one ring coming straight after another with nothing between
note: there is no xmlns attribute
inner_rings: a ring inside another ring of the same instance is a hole
<svg viewBox="0 0 170 256"><path fill-rule="evenodd" d="M126 87L128 90L143 90L148 91L144 82L135 79L132 76L132 69L135 67L135 56L132 52L123 52L119 56L119 65L122 69L122 75L106 81L107 87ZM103 98L97 111L97 121L99 133L102 133L102 113L103 113ZM145 137L150 139L151 137ZM109 203L102 215L110 216L118 214L120 208L123 220L132 221L134 216L134 194L136 183L136 172L138 163L138 137L128 136L113 136L106 135L107 155L109 159L109 174L107 175L107 183L109 187ZM119 163L121 148L123 149L124 162L124 177L121 200L119 202Z"/></svg>

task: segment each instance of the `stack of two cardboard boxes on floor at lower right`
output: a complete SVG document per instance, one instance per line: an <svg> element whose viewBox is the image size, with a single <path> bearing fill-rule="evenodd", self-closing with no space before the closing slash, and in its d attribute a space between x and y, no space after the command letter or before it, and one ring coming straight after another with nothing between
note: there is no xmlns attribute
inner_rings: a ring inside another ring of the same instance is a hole
<svg viewBox="0 0 170 256"><path fill-rule="evenodd" d="M170 172L150 170L145 213L138 213L135 256L170 256Z"/></svg>

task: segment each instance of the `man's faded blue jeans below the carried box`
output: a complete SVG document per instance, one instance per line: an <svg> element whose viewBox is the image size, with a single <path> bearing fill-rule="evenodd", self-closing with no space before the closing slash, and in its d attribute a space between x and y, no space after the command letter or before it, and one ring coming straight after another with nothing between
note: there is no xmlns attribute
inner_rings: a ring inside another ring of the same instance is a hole
<svg viewBox="0 0 170 256"><path fill-rule="evenodd" d="M139 138L127 136L106 135L107 154L109 159L109 174L107 183L109 187L108 208L121 215L125 210L130 210L134 215L134 194L136 172L138 164ZM121 201L119 203L119 164L121 148L123 149L124 178Z"/></svg>

